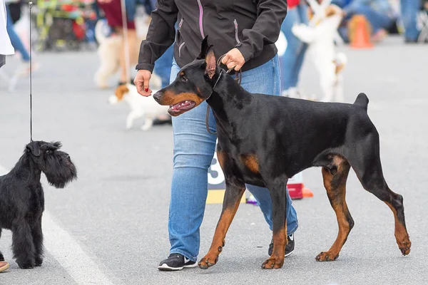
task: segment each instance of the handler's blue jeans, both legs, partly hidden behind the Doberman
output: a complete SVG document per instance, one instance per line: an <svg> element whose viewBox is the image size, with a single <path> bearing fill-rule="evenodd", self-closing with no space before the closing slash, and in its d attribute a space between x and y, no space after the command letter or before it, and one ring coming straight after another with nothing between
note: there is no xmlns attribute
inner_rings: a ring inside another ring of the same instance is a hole
<svg viewBox="0 0 428 285"><path fill-rule="evenodd" d="M178 71L180 68L173 61L170 82L175 80ZM243 72L241 84L252 93L280 95L277 56L258 68ZM173 117L173 179L168 221L170 254L183 254L193 261L196 261L199 253L199 228L208 195L208 168L213 160L217 139L205 128L206 110L207 103L203 101L193 110ZM213 112L210 113L209 128L212 131L216 129ZM246 187L258 200L272 230L272 199L269 190L253 185ZM298 224L288 191L286 209L287 234L290 235L295 232Z"/></svg>

